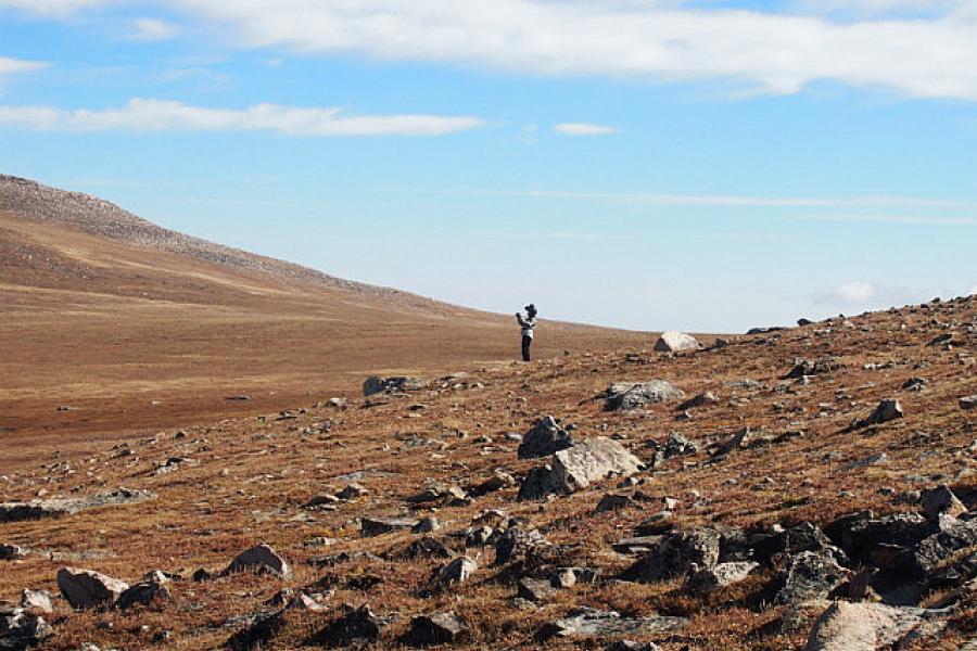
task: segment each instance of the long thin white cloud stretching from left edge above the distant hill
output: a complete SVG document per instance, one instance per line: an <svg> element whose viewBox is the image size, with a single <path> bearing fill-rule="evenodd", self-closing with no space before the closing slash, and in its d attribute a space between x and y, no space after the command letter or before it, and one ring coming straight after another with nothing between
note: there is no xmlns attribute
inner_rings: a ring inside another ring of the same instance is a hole
<svg viewBox="0 0 977 651"><path fill-rule="evenodd" d="M342 108L256 104L206 108L181 102L132 99L122 108L65 111L0 106L0 126L63 131L272 131L288 136L443 136L482 126L475 117L346 115Z"/></svg>

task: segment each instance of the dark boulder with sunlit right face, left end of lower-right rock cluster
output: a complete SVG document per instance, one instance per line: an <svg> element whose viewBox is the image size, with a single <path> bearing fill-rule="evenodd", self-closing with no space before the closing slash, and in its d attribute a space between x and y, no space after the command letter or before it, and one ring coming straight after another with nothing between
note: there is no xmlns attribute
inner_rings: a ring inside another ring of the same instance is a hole
<svg viewBox="0 0 977 651"><path fill-rule="evenodd" d="M638 559L626 578L656 582L714 567L720 558L719 532L696 527L665 535L658 547Z"/></svg>

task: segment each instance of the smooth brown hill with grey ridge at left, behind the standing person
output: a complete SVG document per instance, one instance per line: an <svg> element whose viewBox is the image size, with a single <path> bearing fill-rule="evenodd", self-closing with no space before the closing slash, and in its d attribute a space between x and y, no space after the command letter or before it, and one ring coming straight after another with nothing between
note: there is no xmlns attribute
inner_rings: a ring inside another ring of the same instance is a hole
<svg viewBox="0 0 977 651"><path fill-rule="evenodd" d="M519 345L510 317L229 248L10 176L0 303L0 462L36 455L18 443L38 437L72 446L286 408L371 373L512 359ZM537 353L643 336L548 322Z"/></svg>

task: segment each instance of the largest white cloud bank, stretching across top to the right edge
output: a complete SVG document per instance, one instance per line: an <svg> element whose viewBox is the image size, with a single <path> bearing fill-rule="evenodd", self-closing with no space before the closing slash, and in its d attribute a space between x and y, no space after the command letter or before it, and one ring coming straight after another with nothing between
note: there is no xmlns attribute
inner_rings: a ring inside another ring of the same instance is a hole
<svg viewBox="0 0 977 651"><path fill-rule="evenodd" d="M977 100L977 0L925 18L847 23L669 1L278 0L274 11L265 0L177 2L257 48L547 75L726 79L770 93L827 80Z"/></svg>

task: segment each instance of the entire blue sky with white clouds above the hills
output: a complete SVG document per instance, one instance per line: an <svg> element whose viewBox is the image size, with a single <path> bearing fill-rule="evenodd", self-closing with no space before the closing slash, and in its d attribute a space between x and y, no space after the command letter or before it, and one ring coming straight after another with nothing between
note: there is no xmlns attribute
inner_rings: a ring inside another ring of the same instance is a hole
<svg viewBox="0 0 977 651"><path fill-rule="evenodd" d="M329 273L738 331L977 292L974 0L0 0L0 173Z"/></svg>

